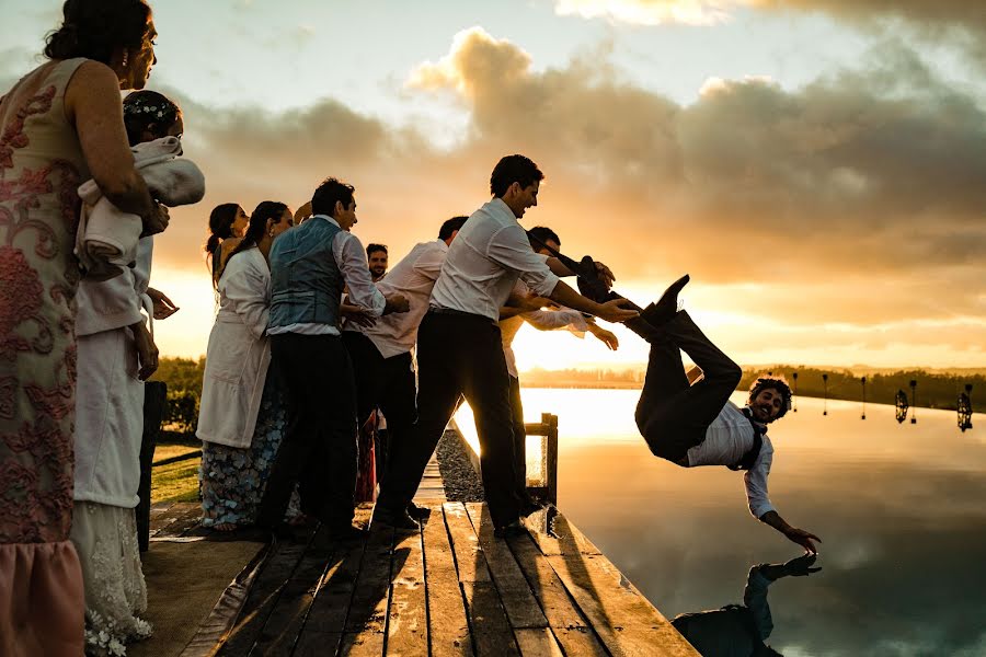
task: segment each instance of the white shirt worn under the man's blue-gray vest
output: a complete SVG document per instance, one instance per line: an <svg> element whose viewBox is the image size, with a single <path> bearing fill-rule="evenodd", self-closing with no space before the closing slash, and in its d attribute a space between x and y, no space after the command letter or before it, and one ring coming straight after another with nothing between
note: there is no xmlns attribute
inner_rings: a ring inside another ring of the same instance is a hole
<svg viewBox="0 0 986 657"><path fill-rule="evenodd" d="M314 219L323 219L333 226L339 226L339 222L328 215L312 215L307 221L313 221ZM387 300L374 285L369 264L366 262L366 251L363 249L359 238L345 230L335 233L335 238L332 241L332 255L335 257L335 264L339 265L343 280L345 280L349 289L349 303L363 308L375 318L381 316L383 307L387 306ZM339 326L300 322L267 330L268 335L280 333L339 335Z"/></svg>

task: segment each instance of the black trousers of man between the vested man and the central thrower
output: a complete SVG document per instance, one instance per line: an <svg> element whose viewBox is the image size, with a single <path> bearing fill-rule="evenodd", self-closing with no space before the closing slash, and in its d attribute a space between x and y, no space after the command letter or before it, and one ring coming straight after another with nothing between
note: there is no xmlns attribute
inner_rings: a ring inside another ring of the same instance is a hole
<svg viewBox="0 0 986 657"><path fill-rule="evenodd" d="M405 440L417 420L417 389L411 354L383 358L377 346L363 333L343 331L343 344L353 361L356 379L356 426L362 427L379 406L387 418L382 447L377 453L377 471L387 473L387 460L393 440Z"/></svg>

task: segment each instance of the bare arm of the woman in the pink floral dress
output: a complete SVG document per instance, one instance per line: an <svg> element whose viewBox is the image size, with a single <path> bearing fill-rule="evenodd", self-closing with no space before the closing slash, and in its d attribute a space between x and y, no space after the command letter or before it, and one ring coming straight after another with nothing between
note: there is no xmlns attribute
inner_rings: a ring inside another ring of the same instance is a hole
<svg viewBox="0 0 986 657"><path fill-rule="evenodd" d="M134 165L116 73L98 61L82 64L66 89L65 112L103 196L122 211L139 216L146 234L163 231L168 209L151 198Z"/></svg>

